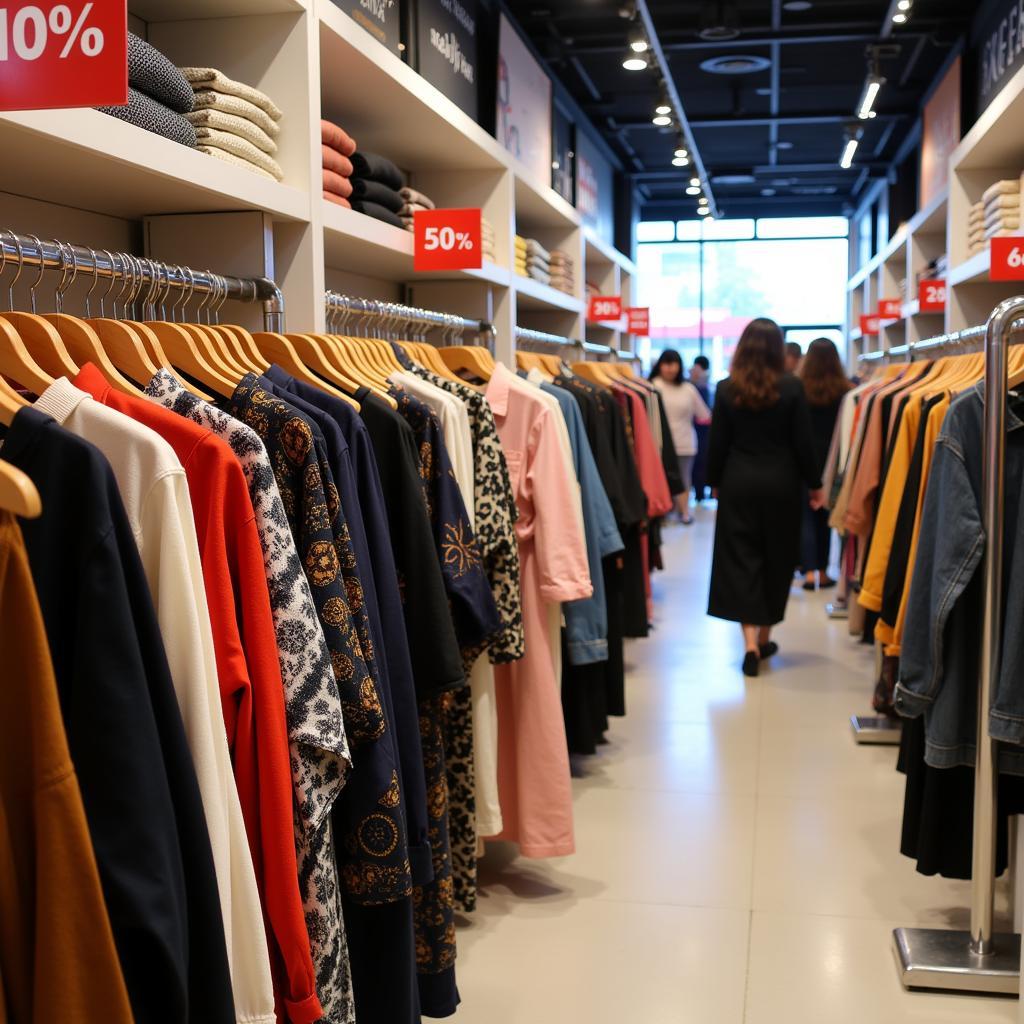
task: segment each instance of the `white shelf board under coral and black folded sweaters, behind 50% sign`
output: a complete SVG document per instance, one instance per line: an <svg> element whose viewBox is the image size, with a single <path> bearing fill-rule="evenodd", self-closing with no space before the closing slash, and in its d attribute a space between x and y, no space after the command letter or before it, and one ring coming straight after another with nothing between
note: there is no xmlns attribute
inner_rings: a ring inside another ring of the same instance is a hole
<svg viewBox="0 0 1024 1024"><path fill-rule="evenodd" d="M413 232L365 213L324 201L325 263L385 281L482 281L508 287L509 272L495 263L477 270L417 273L413 269Z"/></svg>

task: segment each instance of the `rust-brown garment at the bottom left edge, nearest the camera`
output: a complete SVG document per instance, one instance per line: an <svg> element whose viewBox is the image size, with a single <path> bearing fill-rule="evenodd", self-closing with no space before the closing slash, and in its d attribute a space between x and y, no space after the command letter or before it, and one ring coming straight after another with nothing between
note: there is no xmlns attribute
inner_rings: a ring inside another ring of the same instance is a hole
<svg viewBox="0 0 1024 1024"><path fill-rule="evenodd" d="M131 1024L22 531L0 510L0 1024Z"/></svg>

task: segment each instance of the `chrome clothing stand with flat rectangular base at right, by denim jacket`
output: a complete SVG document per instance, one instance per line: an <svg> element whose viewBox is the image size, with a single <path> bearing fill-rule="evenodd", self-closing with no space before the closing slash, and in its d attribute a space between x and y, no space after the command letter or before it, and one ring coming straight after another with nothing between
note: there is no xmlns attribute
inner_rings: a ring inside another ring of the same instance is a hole
<svg viewBox="0 0 1024 1024"><path fill-rule="evenodd" d="M977 760L974 779L974 843L971 872L971 930L897 928L893 932L903 984L972 992L1015 993L1020 989L1019 935L994 934L996 786L998 743L988 733L988 711L999 672L1002 646L1002 512L1005 500L1007 349L1024 341L1024 297L1007 299L992 310L984 329L958 332L985 339L985 424L983 435L982 521L987 538L984 560L984 618L978 680ZM1012 340L1012 335L1018 335ZM919 345L920 351L923 346ZM993 401L993 395L999 400Z"/></svg>

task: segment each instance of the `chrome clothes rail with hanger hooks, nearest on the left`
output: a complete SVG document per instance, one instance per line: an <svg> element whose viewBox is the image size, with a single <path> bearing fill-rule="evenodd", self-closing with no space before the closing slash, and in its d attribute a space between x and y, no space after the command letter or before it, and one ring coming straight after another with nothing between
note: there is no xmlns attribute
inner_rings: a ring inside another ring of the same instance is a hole
<svg viewBox="0 0 1024 1024"><path fill-rule="evenodd" d="M145 310L143 315L154 318L158 315L158 309L161 316L166 316L164 310L167 298L172 292L180 292L181 301L171 304L172 316L178 305L183 307L196 295L208 295L210 299L206 305L208 309L210 306L213 307L209 310L211 315L227 299L262 302L265 330L281 332L285 329L285 297L281 289L268 278L232 278L214 273L212 270L193 270L190 267L164 263L161 260L133 256L129 253L112 253L108 249L96 250L87 246L58 242L55 239L40 241L34 234L0 231L0 271L8 264L17 268L13 281L6 286L11 294L14 282L20 276L24 268L38 267L40 278L46 270L59 270L63 274L61 285L57 289L58 301L63 290L82 273L92 278L93 286L100 279L110 281L111 288L119 281L131 285L132 301L141 298ZM91 293L92 289L89 291ZM104 294L103 298L105 297ZM35 304L35 286L32 289L32 301ZM88 302L87 295L87 305Z"/></svg>

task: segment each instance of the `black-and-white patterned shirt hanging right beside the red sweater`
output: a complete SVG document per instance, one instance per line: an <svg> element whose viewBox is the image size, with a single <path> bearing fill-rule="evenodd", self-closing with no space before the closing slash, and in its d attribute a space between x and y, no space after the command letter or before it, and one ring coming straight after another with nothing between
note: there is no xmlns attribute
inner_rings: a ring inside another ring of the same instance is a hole
<svg viewBox="0 0 1024 1024"><path fill-rule="evenodd" d="M351 979L330 812L350 767L341 698L309 584L302 572L273 468L259 436L161 370L145 393L222 438L242 466L263 551L285 685L294 842L306 932L324 1017L351 1021Z"/></svg>

